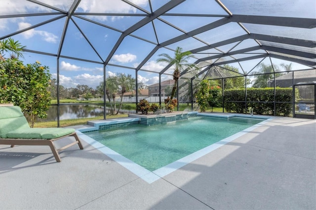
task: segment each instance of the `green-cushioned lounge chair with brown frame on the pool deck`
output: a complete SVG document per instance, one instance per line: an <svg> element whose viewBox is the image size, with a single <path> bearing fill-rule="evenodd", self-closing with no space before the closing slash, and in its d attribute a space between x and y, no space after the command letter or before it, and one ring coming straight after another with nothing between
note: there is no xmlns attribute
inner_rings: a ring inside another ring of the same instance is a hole
<svg viewBox="0 0 316 210"><path fill-rule="evenodd" d="M55 140L72 136L75 142L59 149L54 146ZM30 128L19 106L0 105L0 144L14 145L47 145L57 162L60 162L58 151L77 144L83 146L72 128Z"/></svg>

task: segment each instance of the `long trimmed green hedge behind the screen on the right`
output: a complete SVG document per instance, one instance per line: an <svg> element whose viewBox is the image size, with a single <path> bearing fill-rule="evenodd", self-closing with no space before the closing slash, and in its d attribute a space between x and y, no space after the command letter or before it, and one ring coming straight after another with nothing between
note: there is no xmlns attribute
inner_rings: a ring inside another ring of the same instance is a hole
<svg viewBox="0 0 316 210"><path fill-rule="evenodd" d="M292 91L292 88L277 87L275 98L274 88L247 88L247 108L251 107L255 114L274 115L276 102L276 115L289 116L292 112ZM228 112L247 113L245 89L225 90L224 108Z"/></svg>

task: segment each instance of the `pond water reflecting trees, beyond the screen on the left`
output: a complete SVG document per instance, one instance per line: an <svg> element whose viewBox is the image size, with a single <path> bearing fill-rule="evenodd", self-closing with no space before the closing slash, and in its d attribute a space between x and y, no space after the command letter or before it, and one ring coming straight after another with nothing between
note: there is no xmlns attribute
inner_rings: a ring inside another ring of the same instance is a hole
<svg viewBox="0 0 316 210"><path fill-rule="evenodd" d="M37 118L36 122L44 121L57 121L57 105L51 105L47 112L47 118L41 119ZM89 118L103 116L103 106L102 105L60 105L59 114L60 120L65 119L78 119L78 118ZM111 108L106 108L106 114L111 113ZM122 110L118 112L119 114L123 113L135 113L135 110ZM27 116L29 118L29 116ZM28 119L29 120L29 119Z"/></svg>

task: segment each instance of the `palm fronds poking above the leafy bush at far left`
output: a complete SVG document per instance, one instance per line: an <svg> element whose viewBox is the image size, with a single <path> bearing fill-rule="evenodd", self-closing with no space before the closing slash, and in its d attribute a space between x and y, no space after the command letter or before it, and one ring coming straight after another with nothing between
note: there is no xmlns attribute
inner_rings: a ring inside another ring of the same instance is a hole
<svg viewBox="0 0 316 210"><path fill-rule="evenodd" d="M8 52L10 54L10 58L23 58L22 51L26 46L22 46L18 41L14 41L13 38L8 38L4 40L0 40L0 59L3 59L3 53Z"/></svg>

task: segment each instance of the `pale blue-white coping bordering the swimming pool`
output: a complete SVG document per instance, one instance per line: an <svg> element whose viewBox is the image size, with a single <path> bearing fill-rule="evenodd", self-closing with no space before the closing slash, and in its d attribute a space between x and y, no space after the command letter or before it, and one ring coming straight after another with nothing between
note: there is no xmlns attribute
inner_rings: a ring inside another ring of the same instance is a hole
<svg viewBox="0 0 316 210"><path fill-rule="evenodd" d="M136 122L140 121L140 118L133 118L133 117L126 117L126 118L117 118L117 119L111 119L111 120L98 120L98 121L91 121L89 127L86 128L79 128L77 129L77 134L79 138L89 143L94 148L98 149L103 154L107 155L114 161L116 161L118 164L123 166L124 168L128 169L133 174L139 176L144 181L148 183L153 183L154 181L157 181L158 179L162 178L165 175L168 175L181 167L191 163L192 161L197 160L198 158L212 152L213 150L241 137L242 135L245 135L252 130L264 125L267 123L267 121L274 119L275 117L272 116L262 116L262 115L249 115L249 114L237 114L237 113L201 113L201 112L190 112L191 114L197 114L197 116L211 116L211 117L221 117L221 118L230 118L230 117L247 117L247 118L260 118L260 119L266 119L256 125L253 125L243 131L240 131L230 137L227 137L223 140L220 140L216 143L213 143L207 147L204 147L186 157L183 157L173 163L170 163L164 167L161 167L153 172L143 168L142 166L134 163L133 161L125 158L124 156L120 155L116 151L110 149L109 147L103 145L102 143L86 136L82 132L91 132L91 131L97 131L99 130L99 127L102 125L111 125L116 123L124 123L124 122ZM91 126L93 125L93 126Z"/></svg>

